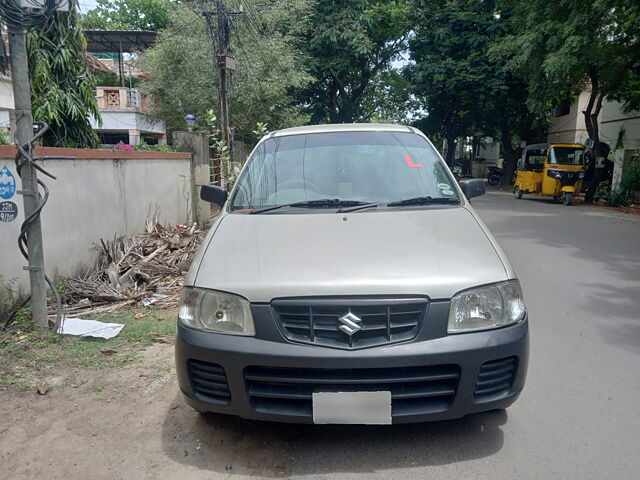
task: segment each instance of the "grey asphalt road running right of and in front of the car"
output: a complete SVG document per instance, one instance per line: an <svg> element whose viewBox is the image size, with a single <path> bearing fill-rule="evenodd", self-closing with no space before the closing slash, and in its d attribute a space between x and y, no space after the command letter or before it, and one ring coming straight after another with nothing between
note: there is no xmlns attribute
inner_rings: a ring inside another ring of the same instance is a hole
<svg viewBox="0 0 640 480"><path fill-rule="evenodd" d="M520 400L506 413L393 428L232 427L283 448L282 474L640 478L640 217L505 193L474 205L525 290L531 359Z"/></svg>

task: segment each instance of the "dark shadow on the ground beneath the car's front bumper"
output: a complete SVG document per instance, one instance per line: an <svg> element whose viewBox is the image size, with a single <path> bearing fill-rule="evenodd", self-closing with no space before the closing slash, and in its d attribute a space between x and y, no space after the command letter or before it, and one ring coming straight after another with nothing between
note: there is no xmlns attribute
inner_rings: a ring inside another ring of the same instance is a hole
<svg viewBox="0 0 640 480"><path fill-rule="evenodd" d="M164 419L162 449L175 462L227 474L373 473L493 455L502 448L506 422L498 410L411 425L277 424L200 415L178 395Z"/></svg>

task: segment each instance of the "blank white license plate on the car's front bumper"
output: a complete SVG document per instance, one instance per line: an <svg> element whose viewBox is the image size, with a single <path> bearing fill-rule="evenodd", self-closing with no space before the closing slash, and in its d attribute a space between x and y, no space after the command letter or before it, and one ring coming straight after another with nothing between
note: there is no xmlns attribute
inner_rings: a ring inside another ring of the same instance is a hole
<svg viewBox="0 0 640 480"><path fill-rule="evenodd" d="M391 392L318 392L313 423L391 425Z"/></svg>

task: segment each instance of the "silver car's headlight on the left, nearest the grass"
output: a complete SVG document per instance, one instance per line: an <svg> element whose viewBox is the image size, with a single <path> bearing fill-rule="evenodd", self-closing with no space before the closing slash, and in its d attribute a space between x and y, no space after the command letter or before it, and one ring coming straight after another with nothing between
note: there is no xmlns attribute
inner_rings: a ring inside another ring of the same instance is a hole
<svg viewBox="0 0 640 480"><path fill-rule="evenodd" d="M198 330L231 335L256 333L249 302L230 293L185 288L178 320Z"/></svg>

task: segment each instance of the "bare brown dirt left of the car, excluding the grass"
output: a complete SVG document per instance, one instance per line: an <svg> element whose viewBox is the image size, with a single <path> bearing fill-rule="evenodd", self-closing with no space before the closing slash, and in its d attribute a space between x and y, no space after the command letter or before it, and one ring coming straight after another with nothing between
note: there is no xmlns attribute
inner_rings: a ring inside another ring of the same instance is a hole
<svg viewBox="0 0 640 480"><path fill-rule="evenodd" d="M276 454L286 452L286 445L247 435L256 424L203 417L182 401L171 344L149 347L142 362L56 375L49 383L64 386L46 395L33 389L0 391L0 478L209 479L287 473Z"/></svg>

